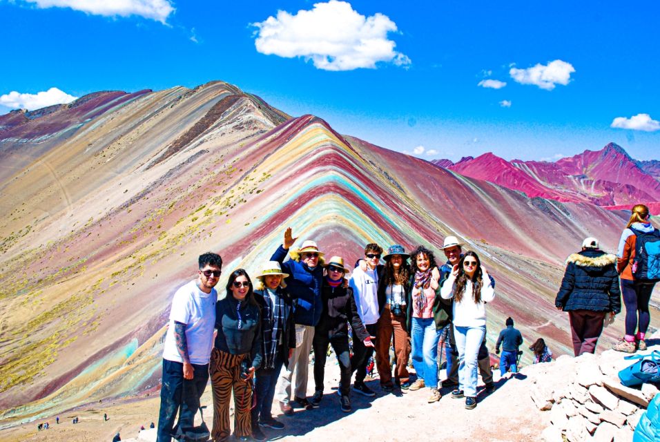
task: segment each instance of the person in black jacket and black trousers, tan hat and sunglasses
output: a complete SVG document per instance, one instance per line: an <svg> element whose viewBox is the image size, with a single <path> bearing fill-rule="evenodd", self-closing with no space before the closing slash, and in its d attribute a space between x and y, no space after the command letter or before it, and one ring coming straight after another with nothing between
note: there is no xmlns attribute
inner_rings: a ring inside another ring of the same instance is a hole
<svg viewBox="0 0 660 442"><path fill-rule="evenodd" d="M373 347L371 337L360 320L358 307L353 298L352 287L344 285L344 276L350 270L344 266L344 259L333 256L326 267L325 279L321 290L323 311L314 332L314 396L311 403L321 403L324 390L325 361L328 345L337 356L340 370L339 394L342 412L351 411L351 356L349 354L349 322L353 329L353 348L358 340L364 341L365 347Z"/></svg>

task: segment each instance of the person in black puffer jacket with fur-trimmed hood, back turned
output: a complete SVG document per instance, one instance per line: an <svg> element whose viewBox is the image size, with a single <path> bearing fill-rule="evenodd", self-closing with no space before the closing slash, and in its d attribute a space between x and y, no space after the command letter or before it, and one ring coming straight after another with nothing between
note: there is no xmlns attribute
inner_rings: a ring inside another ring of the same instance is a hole
<svg viewBox="0 0 660 442"><path fill-rule="evenodd" d="M594 353L605 315L621 311L617 257L601 251L598 240L590 237L566 262L554 305L568 312L575 356Z"/></svg>

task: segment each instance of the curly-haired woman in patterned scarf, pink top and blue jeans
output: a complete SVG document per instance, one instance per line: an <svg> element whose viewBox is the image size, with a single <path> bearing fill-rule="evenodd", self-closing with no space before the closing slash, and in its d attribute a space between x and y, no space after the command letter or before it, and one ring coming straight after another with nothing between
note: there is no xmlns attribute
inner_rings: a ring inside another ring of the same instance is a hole
<svg viewBox="0 0 660 442"><path fill-rule="evenodd" d="M434 307L440 300L440 271L432 251L419 246L410 254L411 276L406 303L408 305L408 330L412 341L413 367L417 380L409 390L423 387L431 389L429 403L440 401L438 389L438 330Z"/></svg>

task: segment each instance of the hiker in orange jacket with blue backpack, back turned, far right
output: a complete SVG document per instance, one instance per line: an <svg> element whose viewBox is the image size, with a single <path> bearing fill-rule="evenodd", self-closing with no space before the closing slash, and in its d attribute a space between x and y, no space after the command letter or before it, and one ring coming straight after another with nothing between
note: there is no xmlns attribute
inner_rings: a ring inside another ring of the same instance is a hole
<svg viewBox="0 0 660 442"><path fill-rule="evenodd" d="M654 229L650 219L647 206L634 206L619 240L617 271L625 304L625 336L613 347L619 352L646 350L644 338L650 323L648 303L660 279L660 232Z"/></svg>

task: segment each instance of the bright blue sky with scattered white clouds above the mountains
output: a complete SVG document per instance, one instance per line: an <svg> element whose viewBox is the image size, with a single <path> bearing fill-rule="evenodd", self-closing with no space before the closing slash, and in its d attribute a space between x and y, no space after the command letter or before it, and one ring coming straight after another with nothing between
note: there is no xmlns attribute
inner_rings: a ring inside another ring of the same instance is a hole
<svg viewBox="0 0 660 442"><path fill-rule="evenodd" d="M0 0L0 113L222 79L426 159L660 159L656 1L79 3Z"/></svg>

